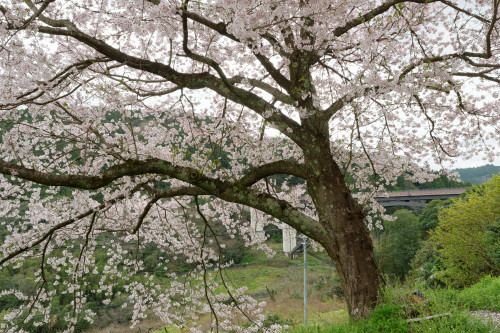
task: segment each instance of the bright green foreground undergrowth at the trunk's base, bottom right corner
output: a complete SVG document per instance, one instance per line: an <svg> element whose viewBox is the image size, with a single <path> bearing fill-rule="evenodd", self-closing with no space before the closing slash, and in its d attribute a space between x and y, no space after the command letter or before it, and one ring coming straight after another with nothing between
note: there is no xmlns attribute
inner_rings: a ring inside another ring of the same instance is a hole
<svg viewBox="0 0 500 333"><path fill-rule="evenodd" d="M423 289L420 291L423 297L413 294L415 287L397 285L386 288L381 304L365 320L335 326L313 322L307 328L299 326L290 332L498 332L498 329L495 331L493 326L471 317L468 312L500 311L500 277L486 277L476 285L461 291ZM419 320L431 316L438 317ZM411 321L415 319L418 321Z"/></svg>

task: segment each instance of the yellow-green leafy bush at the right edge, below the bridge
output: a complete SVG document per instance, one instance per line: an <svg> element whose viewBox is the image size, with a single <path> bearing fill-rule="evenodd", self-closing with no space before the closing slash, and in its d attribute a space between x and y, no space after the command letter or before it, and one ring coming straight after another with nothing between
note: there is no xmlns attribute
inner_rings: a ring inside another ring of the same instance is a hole
<svg viewBox="0 0 500 333"><path fill-rule="evenodd" d="M500 176L472 189L439 213L439 225L431 232L443 269L439 279L450 286L470 286L490 274L498 275Z"/></svg>

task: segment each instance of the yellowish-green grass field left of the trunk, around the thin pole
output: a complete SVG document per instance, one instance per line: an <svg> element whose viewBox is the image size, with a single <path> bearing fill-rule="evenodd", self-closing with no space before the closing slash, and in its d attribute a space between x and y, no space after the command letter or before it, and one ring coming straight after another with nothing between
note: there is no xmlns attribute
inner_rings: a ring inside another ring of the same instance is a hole
<svg viewBox="0 0 500 333"><path fill-rule="evenodd" d="M265 301L264 310L269 315L269 323L278 320L297 326L303 321L303 258L291 259L282 254L281 243L267 245L276 251L274 257L268 258L260 250L252 251L252 262L224 270L224 279L231 287L248 287L252 297ZM311 252L308 250L307 256L309 317L328 324L346 322L349 316L345 304L332 294L332 286L338 283L335 269L325 252ZM168 279L164 280L167 283ZM220 277L215 280L219 283ZM192 283L200 282L193 280ZM223 287L216 289L216 293L219 292L225 292ZM203 331L209 321L209 315L197 320ZM167 327L167 331L176 332L173 326ZM164 333L162 330L158 332Z"/></svg>

